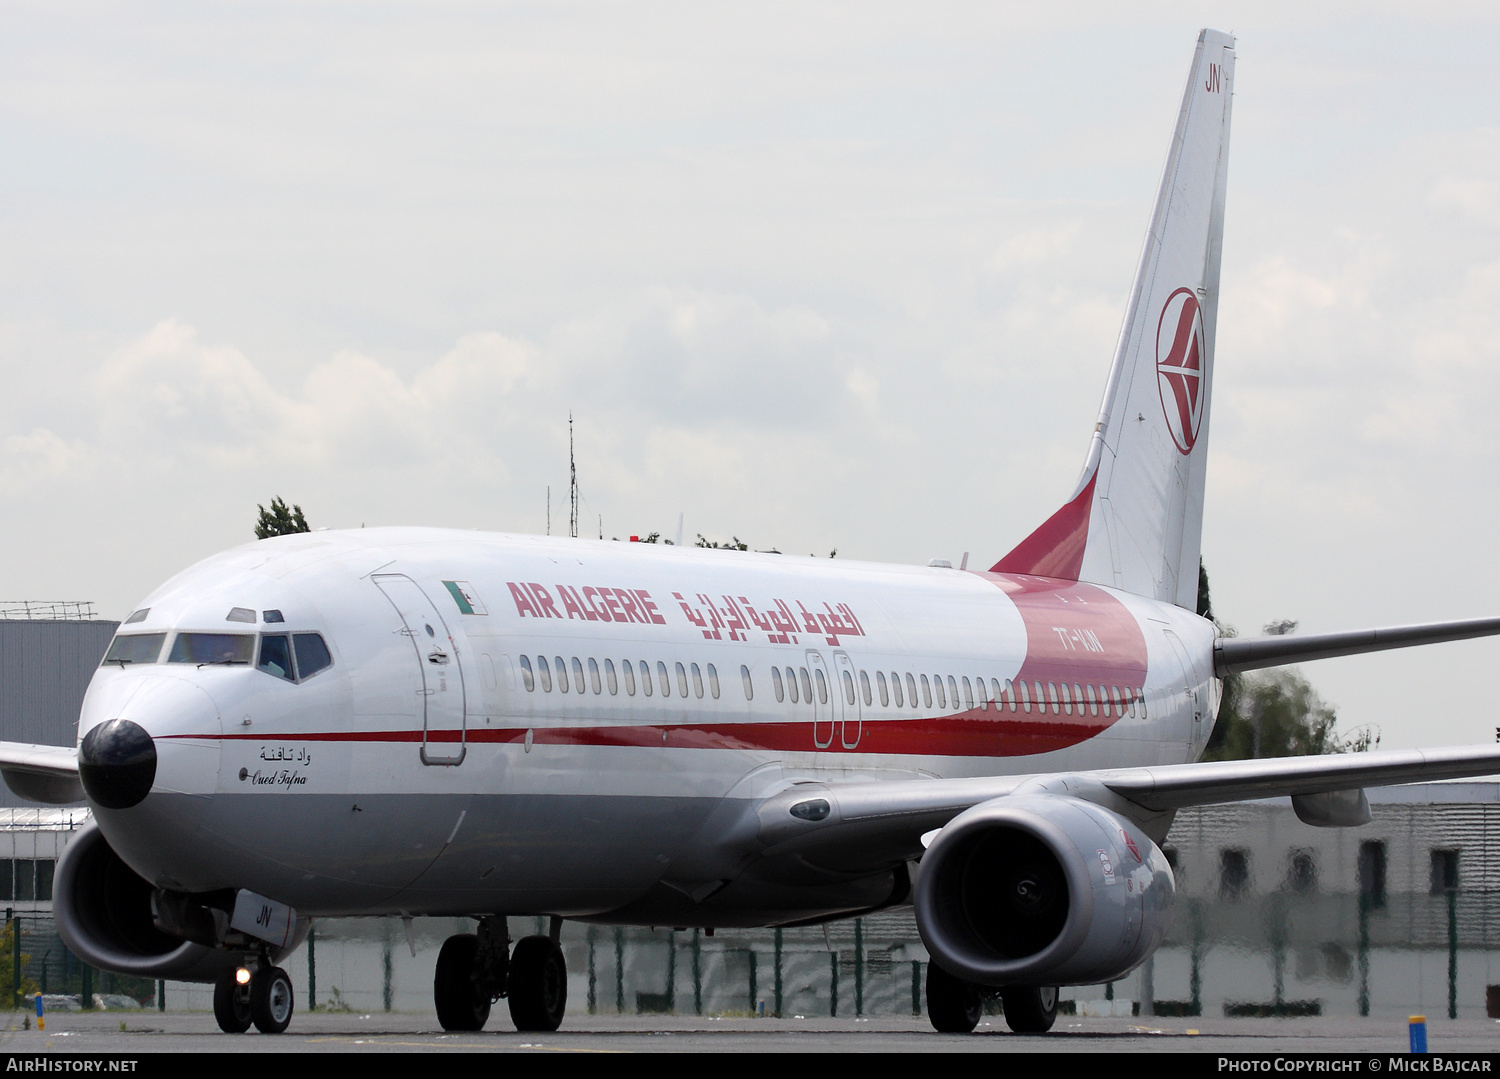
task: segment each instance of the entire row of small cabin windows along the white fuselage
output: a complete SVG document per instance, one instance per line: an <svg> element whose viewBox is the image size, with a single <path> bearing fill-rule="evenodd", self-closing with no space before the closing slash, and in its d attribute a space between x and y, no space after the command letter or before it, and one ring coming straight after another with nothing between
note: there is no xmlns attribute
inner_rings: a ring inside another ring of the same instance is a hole
<svg viewBox="0 0 1500 1079"><path fill-rule="evenodd" d="M674 665L676 668L676 695L688 696L688 681L692 680L692 695L694 698L704 696L704 671L708 674L708 690L710 696L716 701L718 699L718 671L712 663L706 668L699 668L698 663L682 665L681 662ZM568 669L572 668L572 680L568 678ZM652 671L646 660L639 660L639 684L640 693L644 696L652 695ZM783 674L784 671L784 674ZM840 671L840 681L843 683L844 704L855 704L855 684L854 674L850 671ZM620 660L620 668L616 672L615 660L606 659L603 668L600 668L598 660L588 659L588 674L584 674L584 660L573 656L572 660L566 660L562 656L554 656L548 662L546 656L537 656L536 665L532 665L531 656L520 657L520 680L525 683L526 690L536 692L540 683L542 690L546 693L552 692L554 678L558 686L558 692L567 693L568 684L576 692L585 693L592 687L594 693L603 693L606 686L610 696L620 693L620 683L624 681L626 695L636 695L636 663L628 659ZM586 678L586 680L585 680ZM750 678L750 668L740 666L740 681L744 689L747 701L754 699L754 683ZM988 690L986 690L984 678L975 678L969 681L964 678L954 678L954 675L946 675L946 690L944 675L934 674L928 678L926 674L914 675L910 671L904 675L904 690L903 690L903 675L897 671L891 671L890 678L886 678L885 671L874 672L874 681L872 687L870 672L860 671L860 696L864 698L866 707L874 704L874 696L879 693L880 707L890 708L904 708L910 702L912 708L918 707L918 681L921 684L921 702L922 707L932 708L936 701L939 708L946 708L948 701L952 701L952 707L958 707L960 702L960 684L963 693L963 707L966 708L994 708L996 711L1024 711L1030 714L1035 708L1038 713L1047 713L1052 710L1053 716L1071 716L1074 710L1077 714L1090 716L1116 716L1116 717L1146 717L1146 698L1142 695L1140 689L1119 686L1100 686L1095 693L1092 684L1082 686L1074 683L1070 692L1068 683L1048 681L1047 687L1042 689L1040 681L1011 681L1010 678L1000 684L999 678L990 678ZM660 686L662 696L672 696L672 672L668 671L668 665L657 660L656 665L656 683ZM816 687L816 689L814 689ZM808 671L806 666L801 668L771 668L771 690L776 693L777 702L784 702L790 699L792 704L807 701L812 704L813 695L818 695L819 704L828 704L828 678L824 675L822 668L814 668Z"/></svg>

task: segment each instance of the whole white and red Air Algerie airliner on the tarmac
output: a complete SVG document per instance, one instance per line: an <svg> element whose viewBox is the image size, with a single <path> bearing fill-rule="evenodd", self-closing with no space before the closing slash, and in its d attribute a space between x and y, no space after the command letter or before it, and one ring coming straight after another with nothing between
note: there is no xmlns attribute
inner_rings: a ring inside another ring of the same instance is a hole
<svg viewBox="0 0 1500 1079"><path fill-rule="evenodd" d="M1184 806L1500 771L1492 746L1196 764L1230 671L1500 632L1500 618L1221 639L1194 614L1233 39L1204 30L1077 489L987 570L423 528L207 558L147 596L76 749L0 744L24 797L87 795L57 867L96 966L213 981L282 1031L312 918L472 917L438 1017L555 1029L564 918L784 926L910 903L927 1007L1060 984L1161 942ZM512 942L508 915L550 917Z"/></svg>

